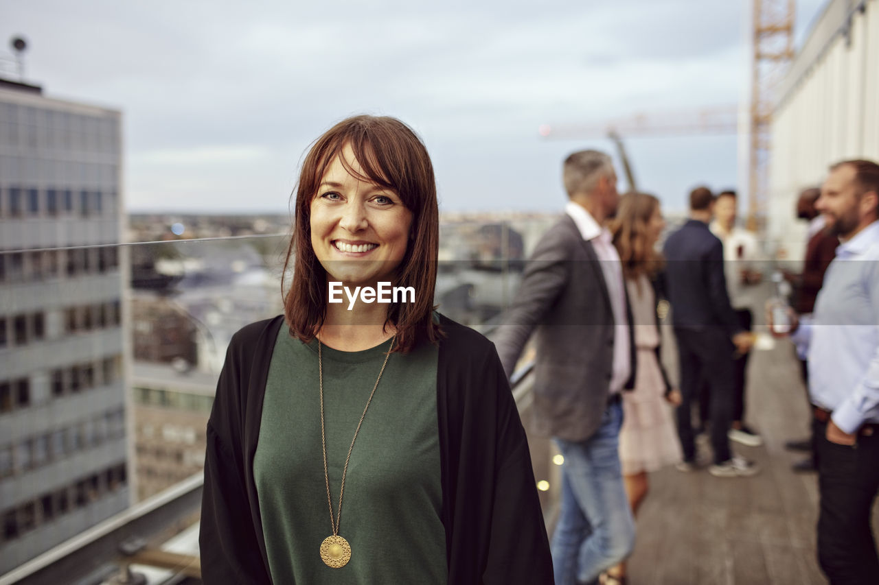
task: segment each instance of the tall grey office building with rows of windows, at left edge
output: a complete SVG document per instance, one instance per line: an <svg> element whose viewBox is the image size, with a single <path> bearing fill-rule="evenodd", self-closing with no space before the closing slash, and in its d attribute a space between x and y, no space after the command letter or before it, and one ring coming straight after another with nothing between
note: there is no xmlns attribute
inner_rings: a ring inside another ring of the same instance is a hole
<svg viewBox="0 0 879 585"><path fill-rule="evenodd" d="M121 114L0 80L0 574L127 508Z"/></svg>

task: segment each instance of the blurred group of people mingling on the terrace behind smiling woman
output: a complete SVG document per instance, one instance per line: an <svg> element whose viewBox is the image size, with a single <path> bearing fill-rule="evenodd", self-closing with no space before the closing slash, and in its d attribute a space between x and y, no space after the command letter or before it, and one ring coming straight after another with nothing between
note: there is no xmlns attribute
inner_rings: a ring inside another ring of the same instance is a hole
<svg viewBox="0 0 879 585"><path fill-rule="evenodd" d="M534 249L496 340L511 375L534 338L535 430L564 457L551 543L556 583L626 582L650 472L759 473L731 444L763 442L745 421L761 312L802 364L813 433L786 446L808 453L795 471L818 473L820 565L832 583L875 582L879 165L839 162L820 188L801 193L792 211L809 222L802 271L771 275L756 236L738 225L735 191L691 191L686 223L660 252L659 200L620 196L609 156L570 155L563 182L563 219ZM678 386L661 358L657 315L669 307Z"/></svg>

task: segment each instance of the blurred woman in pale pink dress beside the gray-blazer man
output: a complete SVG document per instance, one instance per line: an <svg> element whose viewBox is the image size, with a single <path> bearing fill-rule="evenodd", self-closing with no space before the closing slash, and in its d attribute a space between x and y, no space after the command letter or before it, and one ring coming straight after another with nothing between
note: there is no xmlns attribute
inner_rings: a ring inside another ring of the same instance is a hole
<svg viewBox="0 0 879 585"><path fill-rule="evenodd" d="M661 289L658 282L664 261L656 243L664 228L657 198L646 193L621 197L611 230L632 307L637 351L635 389L623 393L620 430L620 462L633 514L647 495L647 473L681 460L670 406L680 403L680 393L672 389L659 358L657 291ZM625 572L621 563L602 575L601 582L625 583Z"/></svg>

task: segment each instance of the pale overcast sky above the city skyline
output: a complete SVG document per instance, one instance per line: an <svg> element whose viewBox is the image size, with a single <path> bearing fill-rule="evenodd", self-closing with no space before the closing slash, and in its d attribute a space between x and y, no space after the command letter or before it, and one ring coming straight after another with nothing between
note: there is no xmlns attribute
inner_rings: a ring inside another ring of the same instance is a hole
<svg viewBox="0 0 879 585"><path fill-rule="evenodd" d="M361 112L421 135L442 210L554 211L563 157L614 147L538 127L737 103L749 2L0 0L0 42L47 96L123 112L131 211L284 212L309 142ZM797 4L802 39L825 2ZM735 137L626 147L669 211L737 184Z"/></svg>

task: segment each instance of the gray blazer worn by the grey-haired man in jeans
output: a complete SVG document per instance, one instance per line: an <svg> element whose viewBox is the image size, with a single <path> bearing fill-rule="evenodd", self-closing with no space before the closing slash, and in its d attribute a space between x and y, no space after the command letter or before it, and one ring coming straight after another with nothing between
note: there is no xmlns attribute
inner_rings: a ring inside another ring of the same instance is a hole
<svg viewBox="0 0 879 585"><path fill-rule="evenodd" d="M625 290L625 287L624 287ZM631 350L636 351L626 297ZM583 441L599 429L614 367L614 313L592 243L569 215L548 230L526 264L519 292L495 337L507 377L534 333L534 431Z"/></svg>

